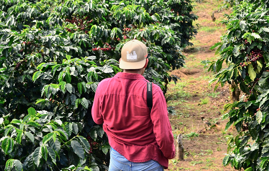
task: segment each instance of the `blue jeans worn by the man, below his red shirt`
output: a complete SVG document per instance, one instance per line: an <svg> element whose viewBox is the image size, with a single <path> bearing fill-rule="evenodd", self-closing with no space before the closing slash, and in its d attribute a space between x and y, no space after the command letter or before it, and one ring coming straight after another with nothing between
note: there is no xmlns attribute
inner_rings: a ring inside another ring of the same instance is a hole
<svg viewBox="0 0 269 171"><path fill-rule="evenodd" d="M155 160L147 162L130 162L112 147L108 171L163 171L163 166Z"/></svg>

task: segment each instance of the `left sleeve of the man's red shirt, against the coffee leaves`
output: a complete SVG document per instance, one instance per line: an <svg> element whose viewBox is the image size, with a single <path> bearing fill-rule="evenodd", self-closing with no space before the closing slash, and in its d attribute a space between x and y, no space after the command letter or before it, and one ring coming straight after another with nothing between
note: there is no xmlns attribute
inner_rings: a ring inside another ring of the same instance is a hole
<svg viewBox="0 0 269 171"><path fill-rule="evenodd" d="M101 104L100 104L100 98L99 98L99 90L98 87L96 89L93 105L92 105L92 119L95 123L102 124L104 123L103 115L101 114Z"/></svg>

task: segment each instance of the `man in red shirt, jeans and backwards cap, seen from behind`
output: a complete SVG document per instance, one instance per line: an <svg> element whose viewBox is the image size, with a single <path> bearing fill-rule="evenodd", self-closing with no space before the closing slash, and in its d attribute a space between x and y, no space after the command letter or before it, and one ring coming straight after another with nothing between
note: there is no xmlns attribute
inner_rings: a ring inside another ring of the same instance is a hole
<svg viewBox="0 0 269 171"><path fill-rule="evenodd" d="M110 149L109 171L163 170L175 157L174 138L163 91L152 85L153 106L147 106L147 47L130 40L121 50L123 72L102 80L92 106L95 123L103 124Z"/></svg>

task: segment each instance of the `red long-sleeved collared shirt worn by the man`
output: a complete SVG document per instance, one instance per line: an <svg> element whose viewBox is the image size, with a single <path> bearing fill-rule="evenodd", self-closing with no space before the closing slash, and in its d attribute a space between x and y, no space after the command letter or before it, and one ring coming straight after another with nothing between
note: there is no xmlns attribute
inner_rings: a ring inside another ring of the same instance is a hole
<svg viewBox="0 0 269 171"><path fill-rule="evenodd" d="M102 80L92 106L95 123L103 124L112 148L132 162L155 160L168 168L175 157L174 137L163 91L153 84L153 107L147 106L147 81L119 72Z"/></svg>

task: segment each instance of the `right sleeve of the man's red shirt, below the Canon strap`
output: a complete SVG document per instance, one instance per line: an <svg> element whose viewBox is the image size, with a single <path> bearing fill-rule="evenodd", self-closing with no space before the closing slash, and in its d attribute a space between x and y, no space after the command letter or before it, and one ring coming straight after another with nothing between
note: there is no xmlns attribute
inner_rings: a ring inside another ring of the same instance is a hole
<svg viewBox="0 0 269 171"><path fill-rule="evenodd" d="M153 132L164 156L172 159L175 157L174 136L168 118L167 104L163 91L161 91L160 87L157 87L157 89L153 93L153 106L151 109L151 120L154 125Z"/></svg>

